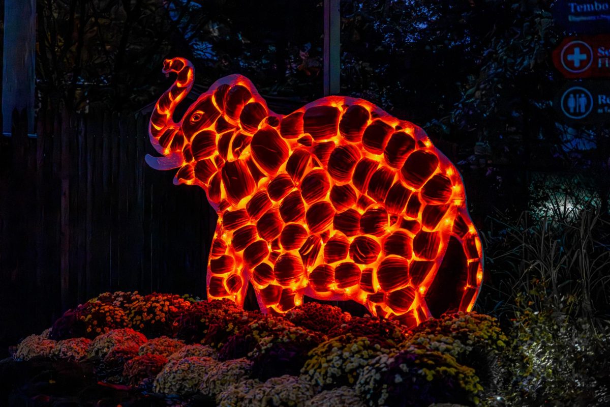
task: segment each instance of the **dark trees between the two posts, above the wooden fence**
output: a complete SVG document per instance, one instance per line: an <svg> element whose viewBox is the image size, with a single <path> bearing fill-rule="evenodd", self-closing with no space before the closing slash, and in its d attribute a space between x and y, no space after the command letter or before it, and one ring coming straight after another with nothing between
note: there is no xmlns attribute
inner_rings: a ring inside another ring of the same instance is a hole
<svg viewBox="0 0 610 407"><path fill-rule="evenodd" d="M38 91L78 112L99 103L132 112L167 86L163 59L181 56L206 85L243 73L265 93L316 98L321 10L318 1L40 1Z"/></svg>

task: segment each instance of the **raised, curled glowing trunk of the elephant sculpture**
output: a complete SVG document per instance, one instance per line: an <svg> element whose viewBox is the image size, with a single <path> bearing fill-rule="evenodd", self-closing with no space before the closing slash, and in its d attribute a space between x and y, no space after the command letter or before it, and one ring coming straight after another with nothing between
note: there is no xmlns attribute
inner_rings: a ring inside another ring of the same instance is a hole
<svg viewBox="0 0 610 407"><path fill-rule="evenodd" d="M148 134L152 146L164 156L175 155L171 151L171 145L174 137L180 131L180 126L174 123L174 110L176 110L176 106L190 92L195 81L193 64L184 58L166 59L163 62L163 73L169 75L170 72L178 74L176 81L163 93L155 104L150 123L148 124ZM169 159L170 157L166 158ZM165 165L168 164L168 162L165 163ZM163 159L158 159L155 167L165 167L165 165L163 165Z"/></svg>

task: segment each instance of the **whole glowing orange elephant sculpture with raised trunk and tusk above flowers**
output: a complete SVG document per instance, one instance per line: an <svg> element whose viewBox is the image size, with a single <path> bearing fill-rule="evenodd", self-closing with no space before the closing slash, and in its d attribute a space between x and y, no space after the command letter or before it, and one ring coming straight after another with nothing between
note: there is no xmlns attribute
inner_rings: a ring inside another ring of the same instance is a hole
<svg viewBox="0 0 610 407"><path fill-rule="evenodd" d="M328 96L289 115L267 109L240 75L215 82L179 123L193 66L157 102L147 156L179 168L218 212L208 298L286 312L303 295L354 300L373 315L416 325L470 311L483 277L481 242L456 168L409 121L362 99ZM443 261L444 259L444 261Z"/></svg>

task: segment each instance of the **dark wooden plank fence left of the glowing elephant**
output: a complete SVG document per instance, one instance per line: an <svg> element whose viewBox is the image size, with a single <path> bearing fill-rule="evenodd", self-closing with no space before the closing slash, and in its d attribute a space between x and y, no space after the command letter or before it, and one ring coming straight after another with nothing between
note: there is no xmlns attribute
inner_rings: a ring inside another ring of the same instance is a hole
<svg viewBox="0 0 610 407"><path fill-rule="evenodd" d="M148 118L15 113L0 136L0 344L100 292L205 295L216 214L175 171L149 168ZM1 356L1 355L0 355Z"/></svg>

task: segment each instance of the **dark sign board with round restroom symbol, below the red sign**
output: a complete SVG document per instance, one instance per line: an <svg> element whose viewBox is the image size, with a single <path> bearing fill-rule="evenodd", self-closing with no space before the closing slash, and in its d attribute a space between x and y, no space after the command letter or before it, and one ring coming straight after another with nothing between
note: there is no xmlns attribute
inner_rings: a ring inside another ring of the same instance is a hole
<svg viewBox="0 0 610 407"><path fill-rule="evenodd" d="M559 90L553 106L564 121L610 123L610 83L569 82Z"/></svg>

